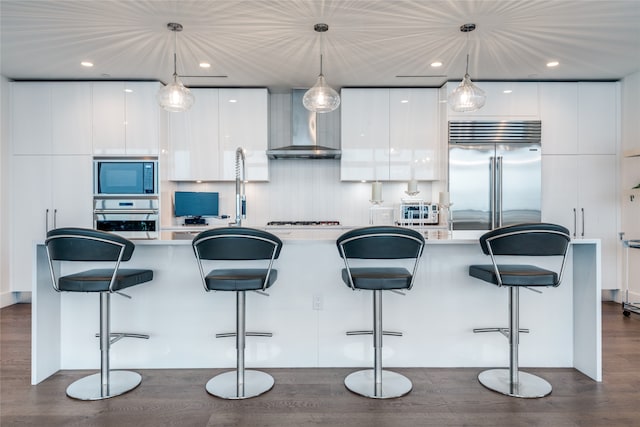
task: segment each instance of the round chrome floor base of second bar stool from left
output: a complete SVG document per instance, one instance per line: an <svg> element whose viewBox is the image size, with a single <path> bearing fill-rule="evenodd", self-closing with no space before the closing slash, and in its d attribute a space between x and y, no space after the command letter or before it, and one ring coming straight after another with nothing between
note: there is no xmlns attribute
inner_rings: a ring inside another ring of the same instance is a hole
<svg viewBox="0 0 640 427"><path fill-rule="evenodd" d="M222 399L248 399L260 396L273 387L273 377L266 372L244 371L244 391L238 390L237 371L216 375L207 382L207 393Z"/></svg>

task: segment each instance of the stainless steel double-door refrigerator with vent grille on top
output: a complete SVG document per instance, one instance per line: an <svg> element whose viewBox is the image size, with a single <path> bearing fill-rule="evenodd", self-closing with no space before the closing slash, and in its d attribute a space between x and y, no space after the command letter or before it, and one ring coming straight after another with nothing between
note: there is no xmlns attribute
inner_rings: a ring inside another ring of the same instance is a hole
<svg viewBox="0 0 640 427"><path fill-rule="evenodd" d="M454 230L540 221L540 121L449 122Z"/></svg>

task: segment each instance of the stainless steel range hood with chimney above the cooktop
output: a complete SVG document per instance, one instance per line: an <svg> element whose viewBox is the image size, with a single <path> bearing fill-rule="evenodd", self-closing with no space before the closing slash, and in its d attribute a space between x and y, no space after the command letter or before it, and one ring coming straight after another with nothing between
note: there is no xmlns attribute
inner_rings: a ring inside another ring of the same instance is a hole
<svg viewBox="0 0 640 427"><path fill-rule="evenodd" d="M321 135L328 115L339 115L338 111L317 114L302 105L306 89L294 89L291 93L291 145L267 150L270 159L339 159L342 152L320 143ZM322 116L322 117L320 117Z"/></svg>

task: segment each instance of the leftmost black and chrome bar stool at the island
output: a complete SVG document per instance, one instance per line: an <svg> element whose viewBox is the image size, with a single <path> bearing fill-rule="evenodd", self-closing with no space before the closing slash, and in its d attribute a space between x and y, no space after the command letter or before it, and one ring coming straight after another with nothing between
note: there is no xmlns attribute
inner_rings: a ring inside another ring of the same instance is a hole
<svg viewBox="0 0 640 427"><path fill-rule="evenodd" d="M45 241L53 287L57 292L89 292L100 294L100 373L81 378L67 388L67 395L80 400L101 400L118 396L136 388L140 374L110 370L111 344L122 338L144 338L148 335L111 333L111 294L131 298L122 290L153 279L152 270L124 269L135 245L124 237L84 228L58 228L47 233ZM96 268L56 277L54 261L108 262L110 267Z"/></svg>

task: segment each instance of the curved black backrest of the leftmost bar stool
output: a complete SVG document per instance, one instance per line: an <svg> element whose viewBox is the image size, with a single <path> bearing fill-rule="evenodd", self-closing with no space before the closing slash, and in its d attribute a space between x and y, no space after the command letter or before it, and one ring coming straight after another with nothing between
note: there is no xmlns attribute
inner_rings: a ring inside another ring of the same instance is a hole
<svg viewBox="0 0 640 427"><path fill-rule="evenodd" d="M56 228L45 240L54 261L129 261L135 245L122 236L88 228Z"/></svg>

